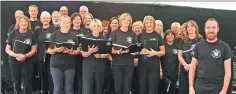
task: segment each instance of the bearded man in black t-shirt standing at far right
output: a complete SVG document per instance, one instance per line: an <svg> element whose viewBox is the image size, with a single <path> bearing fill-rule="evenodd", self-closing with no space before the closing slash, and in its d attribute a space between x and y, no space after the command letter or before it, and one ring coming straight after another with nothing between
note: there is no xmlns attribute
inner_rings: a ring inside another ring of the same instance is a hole
<svg viewBox="0 0 236 94"><path fill-rule="evenodd" d="M189 70L189 94L226 94L231 78L233 54L228 44L219 40L219 23L209 18L205 23L206 40L199 42L192 54Z"/></svg>

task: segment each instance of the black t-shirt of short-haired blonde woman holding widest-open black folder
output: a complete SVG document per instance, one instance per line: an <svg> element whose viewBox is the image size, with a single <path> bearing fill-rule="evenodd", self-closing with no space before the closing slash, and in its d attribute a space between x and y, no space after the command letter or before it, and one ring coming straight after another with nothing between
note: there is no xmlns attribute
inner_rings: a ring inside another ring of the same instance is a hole
<svg viewBox="0 0 236 94"><path fill-rule="evenodd" d="M86 35L85 37L93 39L105 39L105 37L102 35L94 37L92 34L89 34ZM106 58L96 58L94 54L91 54L90 56L83 58L83 68L90 71L104 70L105 63L106 63Z"/></svg>

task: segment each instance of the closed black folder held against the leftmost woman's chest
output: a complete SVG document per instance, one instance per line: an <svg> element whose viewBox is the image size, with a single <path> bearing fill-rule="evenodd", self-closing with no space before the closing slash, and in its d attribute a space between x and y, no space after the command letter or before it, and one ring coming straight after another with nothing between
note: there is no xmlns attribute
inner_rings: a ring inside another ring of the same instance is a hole
<svg viewBox="0 0 236 94"><path fill-rule="evenodd" d="M13 52L14 53L21 53L21 54L26 54L29 52L31 49L31 45L22 42L20 40L15 40L14 47L13 47Z"/></svg>

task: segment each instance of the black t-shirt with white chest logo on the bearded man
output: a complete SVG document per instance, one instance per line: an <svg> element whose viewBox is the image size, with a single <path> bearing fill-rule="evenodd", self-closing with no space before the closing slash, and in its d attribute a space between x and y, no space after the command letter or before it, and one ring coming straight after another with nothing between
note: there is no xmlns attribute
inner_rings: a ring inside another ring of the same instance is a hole
<svg viewBox="0 0 236 94"><path fill-rule="evenodd" d="M197 59L196 79L203 82L224 82L224 61L233 57L228 44L221 40L214 43L202 41L191 53Z"/></svg>

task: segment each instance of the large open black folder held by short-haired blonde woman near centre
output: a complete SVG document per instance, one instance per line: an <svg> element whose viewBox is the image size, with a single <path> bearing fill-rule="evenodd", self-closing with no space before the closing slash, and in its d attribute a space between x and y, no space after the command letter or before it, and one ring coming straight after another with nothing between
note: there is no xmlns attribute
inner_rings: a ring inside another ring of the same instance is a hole
<svg viewBox="0 0 236 94"><path fill-rule="evenodd" d="M104 39L94 39L94 38L80 38L82 50L88 51L88 46L98 47L98 51L95 54L110 54L112 51L112 41Z"/></svg>

